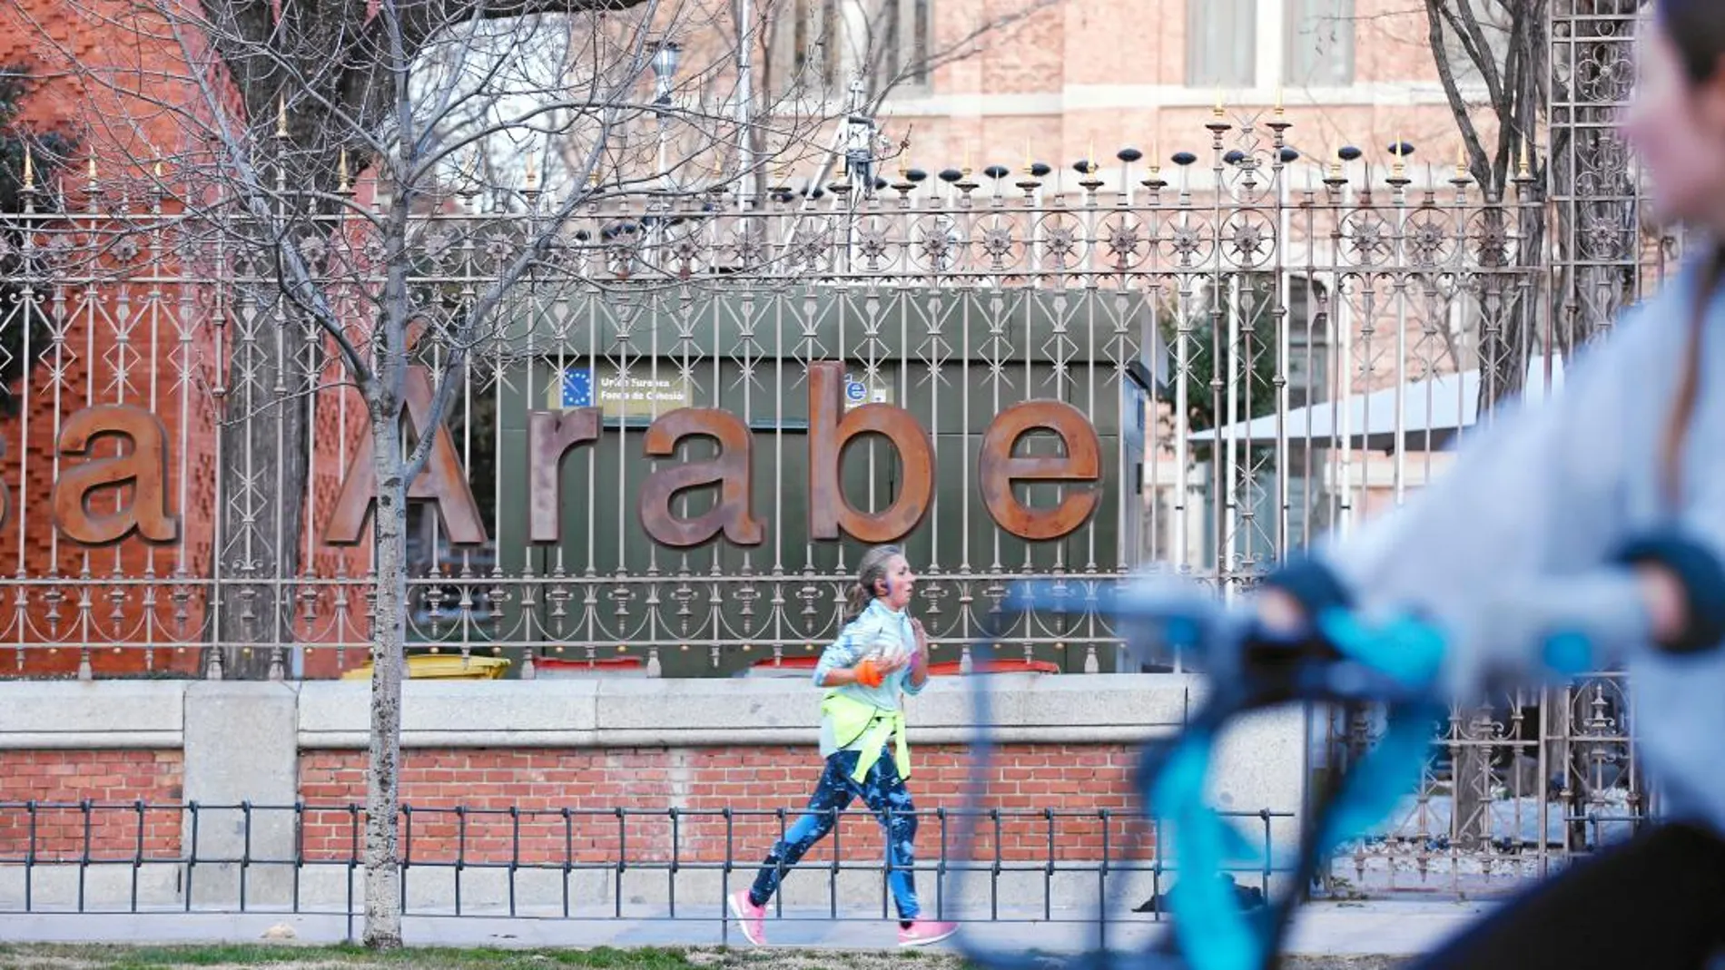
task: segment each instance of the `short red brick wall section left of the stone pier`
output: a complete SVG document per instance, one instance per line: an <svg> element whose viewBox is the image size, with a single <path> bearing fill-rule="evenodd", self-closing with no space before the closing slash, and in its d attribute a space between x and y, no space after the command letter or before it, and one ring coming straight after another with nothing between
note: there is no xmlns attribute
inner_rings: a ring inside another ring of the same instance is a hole
<svg viewBox="0 0 1725 970"><path fill-rule="evenodd" d="M145 858L178 856L179 811L131 803L178 805L181 767L179 751L0 751L0 861L28 858L33 815L38 861L79 860L86 825L91 858L135 858L140 830Z"/></svg>

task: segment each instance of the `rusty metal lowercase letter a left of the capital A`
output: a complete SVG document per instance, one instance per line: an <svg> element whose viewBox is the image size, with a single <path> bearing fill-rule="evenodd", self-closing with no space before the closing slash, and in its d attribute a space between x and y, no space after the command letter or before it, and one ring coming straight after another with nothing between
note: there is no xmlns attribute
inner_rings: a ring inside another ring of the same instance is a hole
<svg viewBox="0 0 1725 970"><path fill-rule="evenodd" d="M124 438L129 451L90 458L60 472L53 482L53 524L85 546L110 546L138 532L147 543L172 543L179 519L167 513L167 429L162 419L133 405L97 405L66 419L60 453L83 455L98 438ZM97 489L131 486L131 500L109 513L90 512Z"/></svg>

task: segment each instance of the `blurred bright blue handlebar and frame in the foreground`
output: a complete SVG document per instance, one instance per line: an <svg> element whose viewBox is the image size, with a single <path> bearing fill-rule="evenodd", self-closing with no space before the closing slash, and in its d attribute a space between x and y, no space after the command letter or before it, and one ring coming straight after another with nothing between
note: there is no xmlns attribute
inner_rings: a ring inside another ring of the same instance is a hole
<svg viewBox="0 0 1725 970"><path fill-rule="evenodd" d="M1064 613L1082 605L1087 615L1109 615L1128 641L1144 639L1190 656L1208 675L1202 708L1170 739L1151 741L1138 763L1144 803L1171 827L1180 877L1170 889L1173 932L1145 951L1095 949L1078 961L1094 970L1264 970L1275 963L1302 887L1321 860L1342 841L1387 815L1418 780L1430 722L1440 717L1433 686L1442 662L1442 636L1416 620L1368 627L1346 612L1316 617L1306 636L1268 636L1252 617L1228 610L1214 596L1182 582L1140 582L1102 588L1088 581L1016 584L1006 606L1016 612ZM1140 643L1133 643L1140 641ZM983 648L992 653L994 641ZM975 681L980 736L969 786L969 811L961 818L961 844L978 817L985 791L988 686ZM1228 724L1245 713L1289 703L1385 703L1389 731L1349 774L1344 786L1314 806L1314 824L1301 837L1292 874L1271 905L1256 915L1237 908L1220 879L1239 836L1204 799L1211 751ZM963 872L959 875L963 880ZM1123 880L1121 880L1123 882ZM1107 906L1107 901L1102 903ZM1106 927L1106 911L1099 911ZM971 961L990 970L1040 967L1028 954L988 948L963 930L957 939Z"/></svg>

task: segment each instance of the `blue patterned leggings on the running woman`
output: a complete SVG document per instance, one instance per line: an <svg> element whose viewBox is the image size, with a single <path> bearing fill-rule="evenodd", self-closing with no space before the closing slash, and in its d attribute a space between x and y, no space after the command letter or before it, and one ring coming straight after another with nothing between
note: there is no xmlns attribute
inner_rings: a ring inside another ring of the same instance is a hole
<svg viewBox="0 0 1725 970"><path fill-rule="evenodd" d="M821 772L821 782L809 796L807 811L797 818L761 863L754 887L749 889L749 899L756 906L766 906L790 867L797 865L814 843L833 830L838 813L861 794L862 803L887 830L887 863L890 867L887 886L892 889L899 918L914 920L921 911L916 903L916 875L913 874L916 865L916 805L911 803L911 793L904 787L904 779L899 777L899 765L894 763L890 749L881 749L880 760L868 770L862 784L850 780L856 767L857 751L835 751L826 758L826 770Z"/></svg>

